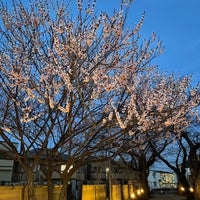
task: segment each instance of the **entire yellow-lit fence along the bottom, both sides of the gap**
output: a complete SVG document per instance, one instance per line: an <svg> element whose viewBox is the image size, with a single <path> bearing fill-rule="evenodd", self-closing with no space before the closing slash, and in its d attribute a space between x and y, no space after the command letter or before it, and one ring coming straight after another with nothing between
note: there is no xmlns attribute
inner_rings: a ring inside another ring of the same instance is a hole
<svg viewBox="0 0 200 200"><path fill-rule="evenodd" d="M59 199L61 186L54 186L54 200ZM106 185L83 185L82 200L105 200ZM113 200L128 200L134 193L133 185L112 185ZM37 200L48 200L47 186L35 186ZM0 186L0 200L27 200L26 186Z"/></svg>

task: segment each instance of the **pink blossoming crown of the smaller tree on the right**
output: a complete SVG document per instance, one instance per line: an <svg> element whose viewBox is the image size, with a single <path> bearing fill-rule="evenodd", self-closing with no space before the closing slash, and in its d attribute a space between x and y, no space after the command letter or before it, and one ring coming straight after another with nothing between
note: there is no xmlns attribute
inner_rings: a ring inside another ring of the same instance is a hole
<svg viewBox="0 0 200 200"><path fill-rule="evenodd" d="M170 137L170 130L180 134L190 125L188 114L198 115L199 88L191 86L191 77L154 71L129 83L114 107L121 127L129 134L155 131L160 138Z"/></svg>

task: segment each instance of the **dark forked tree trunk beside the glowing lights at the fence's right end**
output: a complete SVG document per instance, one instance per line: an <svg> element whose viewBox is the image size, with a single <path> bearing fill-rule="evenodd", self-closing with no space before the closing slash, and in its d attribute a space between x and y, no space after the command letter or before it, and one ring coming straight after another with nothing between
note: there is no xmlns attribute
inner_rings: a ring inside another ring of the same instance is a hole
<svg viewBox="0 0 200 200"><path fill-rule="evenodd" d="M147 133L147 135L149 135ZM156 135L146 137L145 142L138 144L134 136L125 139L120 148L120 158L123 163L135 171L135 178L140 188L144 190L142 199L150 199L148 176L150 167L158 160L161 154L170 143L170 140L160 140ZM156 146L156 151L152 148Z"/></svg>

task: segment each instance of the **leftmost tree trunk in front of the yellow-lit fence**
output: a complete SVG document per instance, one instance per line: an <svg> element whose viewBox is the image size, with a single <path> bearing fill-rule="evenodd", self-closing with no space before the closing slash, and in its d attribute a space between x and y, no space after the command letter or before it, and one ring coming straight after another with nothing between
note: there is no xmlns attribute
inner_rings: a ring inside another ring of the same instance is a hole
<svg viewBox="0 0 200 200"><path fill-rule="evenodd" d="M28 200L36 200L32 170L26 171L26 178L27 178Z"/></svg>

